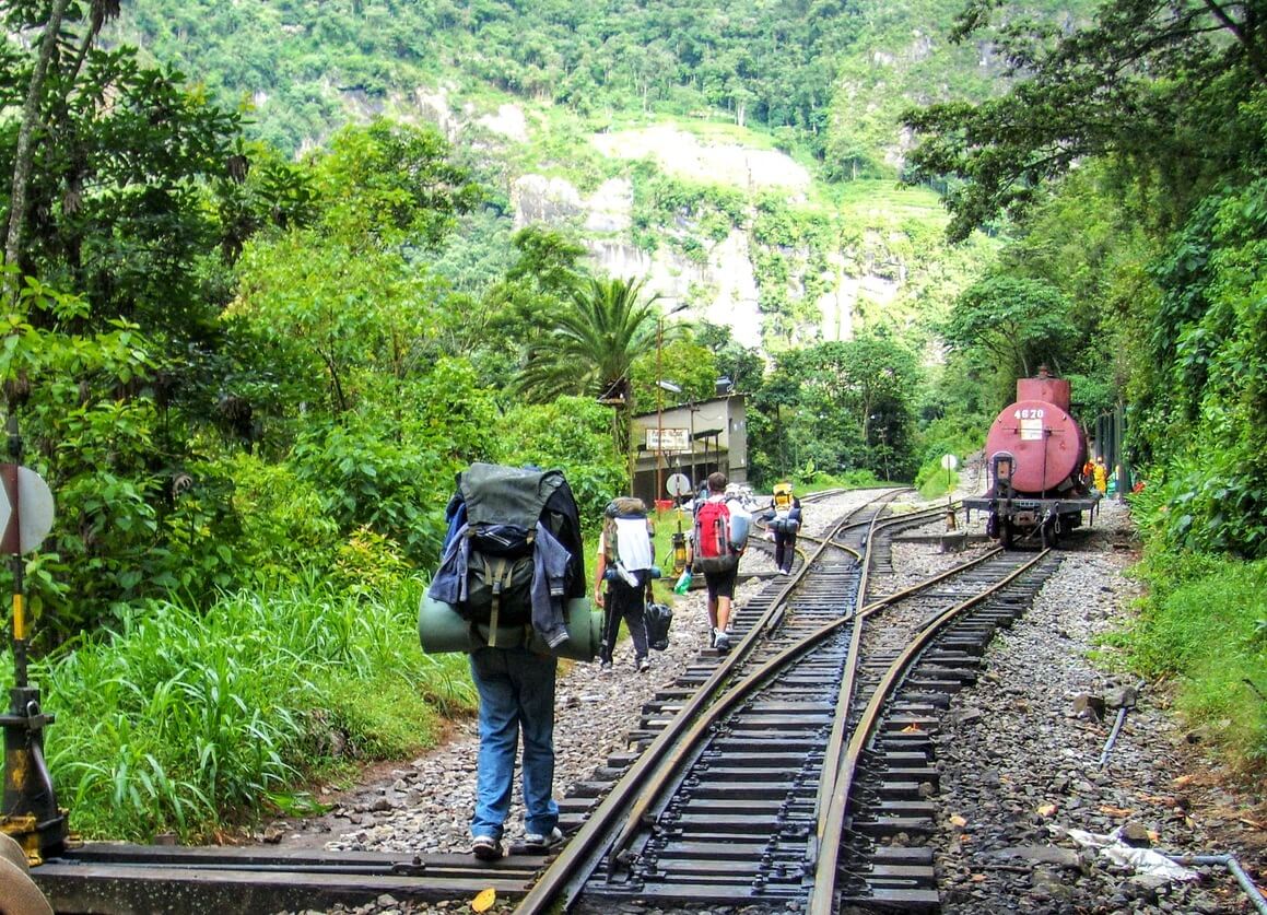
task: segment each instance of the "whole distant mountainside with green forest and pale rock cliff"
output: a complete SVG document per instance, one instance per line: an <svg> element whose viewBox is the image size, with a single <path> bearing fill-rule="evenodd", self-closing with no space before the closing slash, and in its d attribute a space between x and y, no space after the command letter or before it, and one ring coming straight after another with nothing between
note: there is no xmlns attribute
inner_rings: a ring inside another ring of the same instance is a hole
<svg viewBox="0 0 1267 915"><path fill-rule="evenodd" d="M272 148L375 114L438 124L493 195L437 265L459 288L483 291L512 228L545 222L666 309L777 351L907 332L988 257L946 251L935 195L892 188L902 108L993 86L988 54L929 29L952 13L143 0L106 35L245 105Z"/></svg>

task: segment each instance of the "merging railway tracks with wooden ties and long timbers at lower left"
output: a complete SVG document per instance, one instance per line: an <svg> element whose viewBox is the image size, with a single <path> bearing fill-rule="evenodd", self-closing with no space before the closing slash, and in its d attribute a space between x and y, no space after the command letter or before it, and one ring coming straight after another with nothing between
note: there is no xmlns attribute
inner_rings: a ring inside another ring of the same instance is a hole
<svg viewBox="0 0 1267 915"><path fill-rule="evenodd" d="M936 716L971 682L988 631L1026 605L1015 584L995 602L981 596L1025 556L995 551L868 601L870 558L944 512L882 520L896 494L822 537L802 535L793 575L737 608L731 653L703 651L644 707L627 752L573 786L560 825L574 834L551 861L90 845L32 877L58 911L120 914L437 902L487 888L521 899L523 912L635 901L931 909L931 850L892 836L931 825ZM1025 580L1036 588L1041 574ZM976 621L960 622L969 606ZM920 634L924 646L908 650Z"/></svg>

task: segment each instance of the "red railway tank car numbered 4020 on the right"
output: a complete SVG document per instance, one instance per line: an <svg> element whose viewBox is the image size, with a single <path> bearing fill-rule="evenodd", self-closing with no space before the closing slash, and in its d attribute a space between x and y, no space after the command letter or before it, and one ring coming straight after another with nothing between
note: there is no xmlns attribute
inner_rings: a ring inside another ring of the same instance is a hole
<svg viewBox="0 0 1267 915"><path fill-rule="evenodd" d="M991 425L984 456L992 485L964 507L986 511L986 530L1003 546L1034 537L1054 546L1082 512L1093 517L1098 493L1082 479L1087 440L1069 416L1069 383L1045 368L1016 381L1016 403Z"/></svg>

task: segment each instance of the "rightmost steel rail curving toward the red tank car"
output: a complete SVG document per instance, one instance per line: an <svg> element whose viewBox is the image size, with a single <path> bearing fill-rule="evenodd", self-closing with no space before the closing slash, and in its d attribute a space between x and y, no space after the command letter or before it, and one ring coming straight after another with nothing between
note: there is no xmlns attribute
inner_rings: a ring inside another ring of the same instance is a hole
<svg viewBox="0 0 1267 915"><path fill-rule="evenodd" d="M943 626L960 616L964 611L987 599L990 596L1002 591L1005 587L1038 565L1048 556L1050 550L1043 550L1035 554L1031 560L1017 566L1011 572L1011 574L996 582L990 588L944 610L919 634L916 634L914 639L911 639L907 646L893 660L893 663L889 664L888 669L881 677L879 683L875 686L875 691L872 693L870 701L867 703L867 707L858 721L858 726L854 729L844 757L841 757L837 762L836 777L832 779L834 791L831 801L826 810L821 811L824 821L817 830L817 835L820 836L820 854L818 861L816 862L817 866L813 874L813 886L810 890L810 899L805 910L807 915L831 915L832 912L835 902L836 868L840 857L839 836L844 829L845 810L849 805L849 791L853 787L854 774L858 771L858 760L862 757L867 743L872 738L872 733L879 721L881 712L883 711L884 703L888 701L893 687L901 681L915 658L924 651L925 646L936 636ZM855 634L860 629L862 626L856 626L854 629ZM826 836L835 836L836 839L834 841L826 841Z"/></svg>

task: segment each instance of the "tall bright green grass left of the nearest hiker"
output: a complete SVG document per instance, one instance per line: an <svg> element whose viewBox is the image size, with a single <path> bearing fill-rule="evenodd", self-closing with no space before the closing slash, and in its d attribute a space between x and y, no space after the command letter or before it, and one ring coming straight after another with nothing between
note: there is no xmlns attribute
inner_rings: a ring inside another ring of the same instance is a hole
<svg viewBox="0 0 1267 915"><path fill-rule="evenodd" d="M340 594L309 575L207 612L155 603L35 664L72 828L205 836L286 809L338 765L433 744L440 716L474 694L461 655L422 654L421 593L408 582L380 599Z"/></svg>

